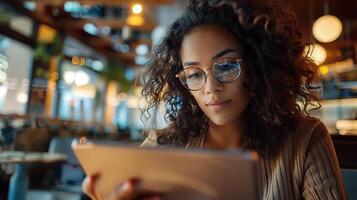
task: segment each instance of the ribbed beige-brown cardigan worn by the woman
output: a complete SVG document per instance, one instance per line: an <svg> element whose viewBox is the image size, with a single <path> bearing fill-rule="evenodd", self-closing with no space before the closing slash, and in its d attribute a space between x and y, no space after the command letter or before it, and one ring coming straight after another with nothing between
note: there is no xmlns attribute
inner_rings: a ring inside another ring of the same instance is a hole
<svg viewBox="0 0 357 200"><path fill-rule="evenodd" d="M301 123L276 159L259 159L263 199L347 199L331 137L314 118ZM204 137L191 138L186 148L203 148ZM151 133L143 147L158 147Z"/></svg>

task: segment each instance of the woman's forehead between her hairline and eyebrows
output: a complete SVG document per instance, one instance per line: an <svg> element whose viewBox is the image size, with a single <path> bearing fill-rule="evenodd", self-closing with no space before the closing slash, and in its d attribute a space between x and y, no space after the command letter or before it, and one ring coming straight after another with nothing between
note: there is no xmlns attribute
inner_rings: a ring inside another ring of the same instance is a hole
<svg viewBox="0 0 357 200"><path fill-rule="evenodd" d="M229 55L243 53L238 39L226 28L220 25L201 25L184 37L180 57L183 62L205 61L227 48L236 51Z"/></svg>

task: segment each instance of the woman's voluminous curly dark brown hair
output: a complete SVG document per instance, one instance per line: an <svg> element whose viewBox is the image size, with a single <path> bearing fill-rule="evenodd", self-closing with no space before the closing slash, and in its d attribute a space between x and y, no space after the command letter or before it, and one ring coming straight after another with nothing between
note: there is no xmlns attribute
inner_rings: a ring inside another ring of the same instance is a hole
<svg viewBox="0 0 357 200"><path fill-rule="evenodd" d="M189 137L207 133L207 116L175 77L182 70L183 38L206 24L225 27L244 50L248 105L243 114L248 132L242 136L242 148L276 155L286 136L309 116L307 107L320 107L312 103L318 102L312 93L316 65L304 53L306 43L295 15L256 0L190 0L155 48L142 93L149 102L146 111L166 103L166 130L172 130L159 134L157 142L185 145Z"/></svg>

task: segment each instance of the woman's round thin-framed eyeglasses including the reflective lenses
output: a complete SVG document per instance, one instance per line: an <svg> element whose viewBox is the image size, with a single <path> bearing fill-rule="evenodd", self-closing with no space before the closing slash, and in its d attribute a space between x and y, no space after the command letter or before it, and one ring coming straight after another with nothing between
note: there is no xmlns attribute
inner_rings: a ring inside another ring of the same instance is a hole
<svg viewBox="0 0 357 200"><path fill-rule="evenodd" d="M209 70L220 83L230 83L239 77L241 62L240 58L224 57L215 61ZM187 67L176 74L176 77L187 89L197 91L206 84L208 73L198 67Z"/></svg>

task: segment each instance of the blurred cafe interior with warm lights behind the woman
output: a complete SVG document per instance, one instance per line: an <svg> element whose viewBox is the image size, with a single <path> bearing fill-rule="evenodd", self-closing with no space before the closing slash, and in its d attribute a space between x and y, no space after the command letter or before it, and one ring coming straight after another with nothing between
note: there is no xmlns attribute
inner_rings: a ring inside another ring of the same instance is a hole
<svg viewBox="0 0 357 200"><path fill-rule="evenodd" d="M357 199L357 1L270 1L295 11L312 47L321 108L310 114L331 134L346 191ZM184 6L0 1L0 199L86 199L73 139L140 144L147 130L167 125L164 104L141 118L141 89L152 49Z"/></svg>

